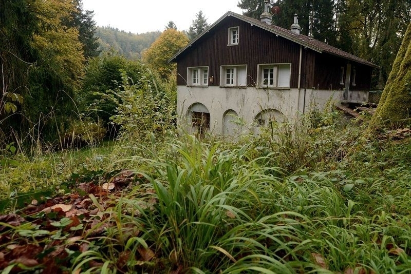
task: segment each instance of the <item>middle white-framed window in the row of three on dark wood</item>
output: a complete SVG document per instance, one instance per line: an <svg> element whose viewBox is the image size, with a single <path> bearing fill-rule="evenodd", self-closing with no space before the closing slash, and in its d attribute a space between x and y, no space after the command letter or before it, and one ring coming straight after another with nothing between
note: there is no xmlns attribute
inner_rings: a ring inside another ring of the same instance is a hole
<svg viewBox="0 0 411 274"><path fill-rule="evenodd" d="M245 87L247 86L247 65L221 66L220 86Z"/></svg>

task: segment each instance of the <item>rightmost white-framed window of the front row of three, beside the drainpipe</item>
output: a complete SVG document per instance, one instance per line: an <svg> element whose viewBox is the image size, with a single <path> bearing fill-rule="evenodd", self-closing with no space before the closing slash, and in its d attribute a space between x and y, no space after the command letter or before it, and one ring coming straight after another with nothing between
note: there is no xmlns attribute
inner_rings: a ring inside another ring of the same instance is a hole
<svg viewBox="0 0 411 274"><path fill-rule="evenodd" d="M260 87L290 88L291 64L259 64L257 71Z"/></svg>

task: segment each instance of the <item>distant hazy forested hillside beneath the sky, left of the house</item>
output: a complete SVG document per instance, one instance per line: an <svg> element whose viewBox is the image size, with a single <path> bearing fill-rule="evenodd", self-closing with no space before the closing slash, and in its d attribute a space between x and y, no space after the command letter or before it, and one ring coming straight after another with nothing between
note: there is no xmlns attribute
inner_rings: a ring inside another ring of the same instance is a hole
<svg viewBox="0 0 411 274"><path fill-rule="evenodd" d="M160 36L160 31L134 34L114 27L96 27L96 37L99 38L99 50L117 51L129 60L140 59L142 52Z"/></svg>

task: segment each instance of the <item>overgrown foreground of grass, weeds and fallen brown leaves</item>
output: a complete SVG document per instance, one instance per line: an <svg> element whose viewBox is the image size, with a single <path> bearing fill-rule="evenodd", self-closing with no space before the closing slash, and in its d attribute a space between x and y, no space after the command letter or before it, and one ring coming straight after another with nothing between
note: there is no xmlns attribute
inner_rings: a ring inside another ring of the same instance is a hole
<svg viewBox="0 0 411 274"><path fill-rule="evenodd" d="M124 105L117 117L135 123ZM408 273L410 130L367 136L366 122L339 119L312 113L236 142L152 123L123 128L104 150L24 158L9 147L0 268Z"/></svg>

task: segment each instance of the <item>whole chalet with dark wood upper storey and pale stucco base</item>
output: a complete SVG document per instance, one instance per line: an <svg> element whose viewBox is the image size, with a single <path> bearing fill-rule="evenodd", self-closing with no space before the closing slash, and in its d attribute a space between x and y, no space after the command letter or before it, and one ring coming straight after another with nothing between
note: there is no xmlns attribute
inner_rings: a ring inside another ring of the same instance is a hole
<svg viewBox="0 0 411 274"><path fill-rule="evenodd" d="M235 135L330 100L368 100L378 66L300 34L297 15L290 30L271 22L268 5L261 21L229 11L170 59L180 125Z"/></svg>

